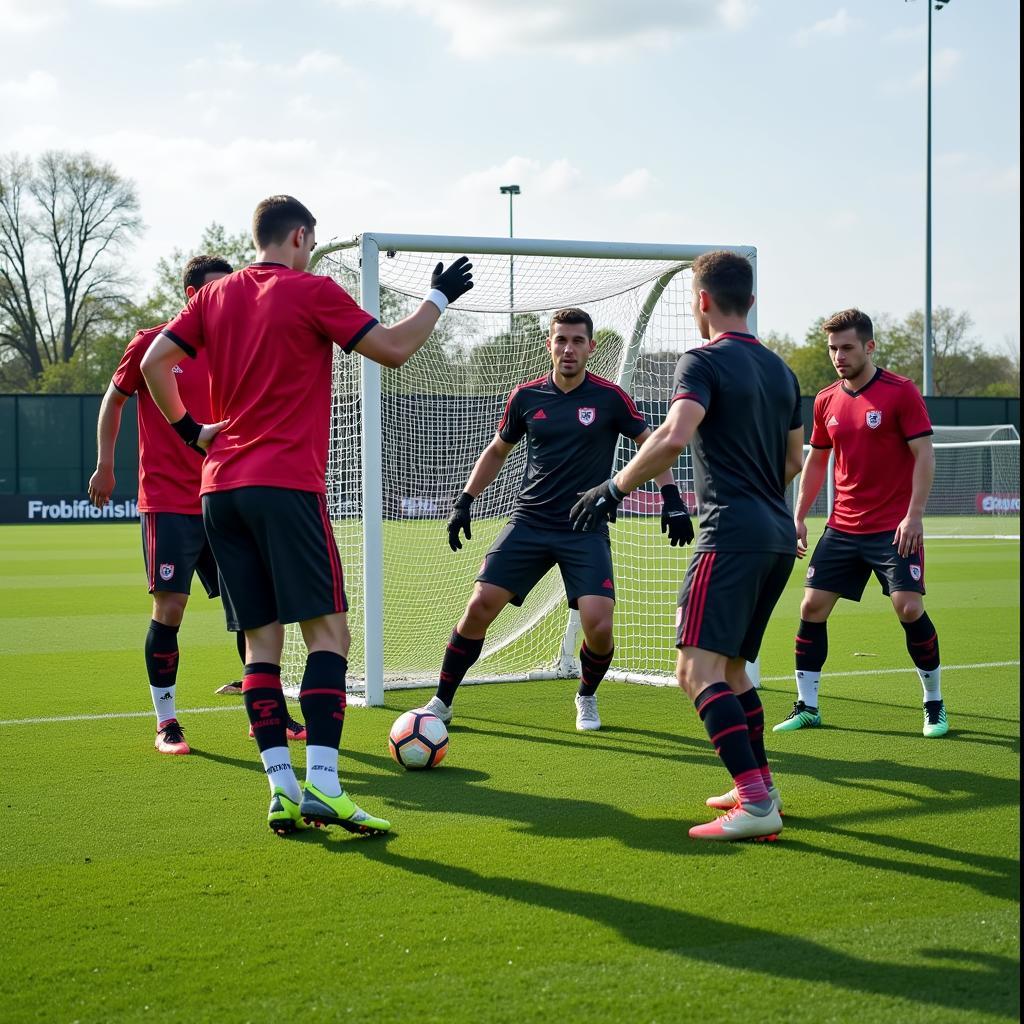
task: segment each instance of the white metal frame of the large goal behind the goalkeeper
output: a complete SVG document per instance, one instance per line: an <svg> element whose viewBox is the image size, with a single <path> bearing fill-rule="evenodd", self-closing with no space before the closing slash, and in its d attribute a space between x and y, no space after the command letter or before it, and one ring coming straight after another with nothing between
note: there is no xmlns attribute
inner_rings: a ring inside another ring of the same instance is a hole
<svg viewBox="0 0 1024 1024"><path fill-rule="evenodd" d="M588 242L555 239L484 238L451 234L404 234L364 231L349 239L333 241L317 247L309 261L314 272L321 260L342 250L356 250L359 256L359 304L372 316L380 317L380 255L389 252L467 253L496 256L550 256L580 259L649 259L676 261L680 265L667 271L653 283L637 317L630 343L624 352L616 383L630 390L633 357L643 343L647 323L672 278L686 269L702 253L733 252L743 256L754 270L754 294L757 294L757 248L736 245L672 245L632 242ZM756 306L751 309L750 324L757 333ZM513 309L524 311L523 309ZM362 487L362 613L365 702L380 707L384 702L384 485L381 367L373 359L360 359L359 390L361 395L360 443ZM610 467L609 467L610 468ZM373 628L371 628L373 624ZM574 635L579 630L579 614L571 612L558 657L558 668L550 673L527 673L524 678L568 677L575 671ZM759 682L758 666L751 666L755 684ZM611 672L608 678L628 682L658 683L659 677L641 676L628 672ZM483 680L480 680L483 681ZM467 680L468 682L468 680Z"/></svg>

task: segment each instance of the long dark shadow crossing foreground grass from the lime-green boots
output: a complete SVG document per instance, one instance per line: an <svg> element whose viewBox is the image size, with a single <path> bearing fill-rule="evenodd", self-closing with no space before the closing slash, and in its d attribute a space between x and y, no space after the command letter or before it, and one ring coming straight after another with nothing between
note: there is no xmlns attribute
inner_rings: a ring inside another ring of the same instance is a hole
<svg viewBox="0 0 1024 1024"><path fill-rule="evenodd" d="M865 995L907 1000L971 1015L1016 1019L1019 1013L1018 963L1009 956L949 949L921 949L936 965L864 959L770 928L755 928L701 916L686 910L641 903L621 896L560 889L528 879L483 874L432 860L368 849L392 868L433 879L446 886L592 921L617 932L639 948L678 956L681 962L844 988ZM734 880L709 887L709 901L734 894ZM976 967L963 966L963 961ZM953 963L948 963L952 961Z"/></svg>

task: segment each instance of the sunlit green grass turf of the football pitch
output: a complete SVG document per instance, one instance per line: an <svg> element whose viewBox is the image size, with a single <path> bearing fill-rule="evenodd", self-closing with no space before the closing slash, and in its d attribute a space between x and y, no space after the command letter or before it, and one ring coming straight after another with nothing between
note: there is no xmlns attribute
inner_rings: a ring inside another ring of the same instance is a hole
<svg viewBox="0 0 1024 1024"><path fill-rule="evenodd" d="M139 561L137 527L0 529L0 719L146 709ZM947 666L1019 658L1018 588L1016 543L932 546ZM769 679L799 595L795 573ZM419 694L353 710L343 775L396 834L278 840L239 698L212 694L237 674L219 604L197 598L179 706L230 710L182 716L195 756L156 755L148 718L0 726L0 1019L1015 1019L1018 669L947 672L952 731L925 740L873 585L829 639L824 727L769 737L776 844L687 840L728 780L677 691L607 683L605 728L580 735L565 682L466 689L424 774L385 751ZM793 695L763 698L776 722Z"/></svg>

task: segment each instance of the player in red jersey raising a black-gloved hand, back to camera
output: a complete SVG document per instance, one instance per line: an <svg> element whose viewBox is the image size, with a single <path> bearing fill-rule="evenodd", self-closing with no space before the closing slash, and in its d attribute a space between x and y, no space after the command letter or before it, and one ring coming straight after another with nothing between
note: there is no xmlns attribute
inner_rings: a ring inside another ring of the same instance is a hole
<svg viewBox="0 0 1024 1024"><path fill-rule="evenodd" d="M202 289L142 360L161 412L182 441L207 450L203 516L224 585L228 628L245 630L243 698L270 783L268 823L350 831L390 824L360 810L338 778L350 641L341 559L328 515L334 346L400 367L449 302L472 287L465 257L438 264L411 316L384 327L332 279L306 273L316 221L290 196L256 208L256 262ZM181 352L205 352L211 420L198 423L174 387ZM283 624L298 623L308 655L299 702L306 720L302 790L285 736ZM371 624L371 628L380 624Z"/></svg>

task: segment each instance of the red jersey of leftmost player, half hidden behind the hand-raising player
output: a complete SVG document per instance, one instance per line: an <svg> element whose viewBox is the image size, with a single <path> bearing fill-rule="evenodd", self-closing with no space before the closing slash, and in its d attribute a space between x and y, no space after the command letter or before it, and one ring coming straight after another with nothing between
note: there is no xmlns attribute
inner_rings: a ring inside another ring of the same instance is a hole
<svg viewBox="0 0 1024 1024"><path fill-rule="evenodd" d="M157 408L139 364L163 330L139 331L128 343L112 383L122 394L138 395L138 510L202 515L199 486L203 457L174 432ZM200 423L210 422L210 375L206 358L182 359L174 368L178 394Z"/></svg>

